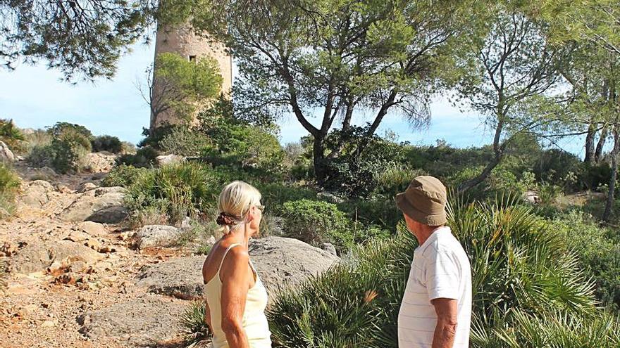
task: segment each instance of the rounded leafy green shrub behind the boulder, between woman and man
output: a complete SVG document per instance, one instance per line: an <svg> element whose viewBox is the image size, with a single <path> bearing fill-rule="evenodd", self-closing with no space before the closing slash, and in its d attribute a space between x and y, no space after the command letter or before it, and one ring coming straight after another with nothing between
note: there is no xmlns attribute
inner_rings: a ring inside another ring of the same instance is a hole
<svg viewBox="0 0 620 348"><path fill-rule="evenodd" d="M337 205L316 200L294 200L283 204L286 236L313 245L332 243L343 252L352 247L352 222Z"/></svg>

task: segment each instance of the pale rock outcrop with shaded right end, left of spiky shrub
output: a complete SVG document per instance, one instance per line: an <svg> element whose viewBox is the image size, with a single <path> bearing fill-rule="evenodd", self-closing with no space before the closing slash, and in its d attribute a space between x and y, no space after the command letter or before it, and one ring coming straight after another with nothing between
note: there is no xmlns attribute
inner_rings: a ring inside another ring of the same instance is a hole
<svg viewBox="0 0 620 348"><path fill-rule="evenodd" d="M108 224L116 224L120 222L122 214L117 214L123 211L123 193L106 193L99 197L92 195L81 195L80 198L75 200L70 206L68 206L60 214L60 218L64 221L95 221L105 222ZM111 208L115 210L111 210ZM103 213L101 211L104 211ZM114 213L116 219L104 219L106 212L110 214ZM125 211L126 213L126 211ZM102 215L103 214L103 215ZM125 214L126 217L126 214ZM123 219L125 217L122 217Z"/></svg>

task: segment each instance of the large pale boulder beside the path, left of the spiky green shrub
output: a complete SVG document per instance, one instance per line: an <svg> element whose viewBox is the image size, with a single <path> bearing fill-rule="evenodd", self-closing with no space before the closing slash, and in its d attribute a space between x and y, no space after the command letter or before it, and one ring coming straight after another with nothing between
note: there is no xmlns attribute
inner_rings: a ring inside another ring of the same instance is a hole
<svg viewBox="0 0 620 348"><path fill-rule="evenodd" d="M95 213L110 207L118 207L123 205L123 193L106 193L99 197L91 195L81 195L80 198L66 207L60 214L60 218L64 221L85 221L90 220ZM95 216L99 217L100 215ZM100 219L95 219L95 222Z"/></svg>

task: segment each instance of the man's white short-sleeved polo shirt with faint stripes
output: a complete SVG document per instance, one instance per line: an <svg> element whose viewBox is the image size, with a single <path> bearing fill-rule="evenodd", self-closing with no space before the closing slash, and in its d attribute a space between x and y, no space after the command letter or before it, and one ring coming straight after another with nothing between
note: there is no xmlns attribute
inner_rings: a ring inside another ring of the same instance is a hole
<svg viewBox="0 0 620 348"><path fill-rule="evenodd" d="M430 300L457 300L457 333L453 348L469 347L471 266L449 227L437 228L416 248L398 313L398 347L430 348L437 314Z"/></svg>

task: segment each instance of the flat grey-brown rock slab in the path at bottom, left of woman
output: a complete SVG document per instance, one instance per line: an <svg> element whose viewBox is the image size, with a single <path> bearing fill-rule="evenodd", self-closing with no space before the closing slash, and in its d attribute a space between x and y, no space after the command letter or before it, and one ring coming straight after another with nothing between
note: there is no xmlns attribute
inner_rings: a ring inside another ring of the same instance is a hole
<svg viewBox="0 0 620 348"><path fill-rule="evenodd" d="M79 319L80 333L94 342L123 342L125 347L152 347L173 340L187 303L144 295L128 302L91 311Z"/></svg>

